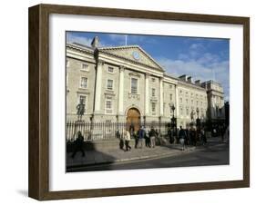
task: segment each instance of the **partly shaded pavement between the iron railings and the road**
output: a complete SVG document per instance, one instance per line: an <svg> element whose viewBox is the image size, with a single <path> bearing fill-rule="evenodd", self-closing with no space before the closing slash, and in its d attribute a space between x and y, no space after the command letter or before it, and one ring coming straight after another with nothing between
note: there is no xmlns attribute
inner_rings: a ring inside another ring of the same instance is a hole
<svg viewBox="0 0 256 205"><path fill-rule="evenodd" d="M222 144L219 137L212 137L208 139L206 146L186 146L185 151L181 151L180 144L167 144L159 145L155 148L143 147L142 149L135 149L132 147L130 151L124 151L120 149L106 149L100 151L85 151L85 157L81 152L77 152L77 155L73 159L72 153L67 153L67 171L76 167L87 167L108 163L119 163L125 161L139 161L147 159L157 159L163 157L177 156L184 153L198 151L200 149L207 149L210 146L218 146Z"/></svg>

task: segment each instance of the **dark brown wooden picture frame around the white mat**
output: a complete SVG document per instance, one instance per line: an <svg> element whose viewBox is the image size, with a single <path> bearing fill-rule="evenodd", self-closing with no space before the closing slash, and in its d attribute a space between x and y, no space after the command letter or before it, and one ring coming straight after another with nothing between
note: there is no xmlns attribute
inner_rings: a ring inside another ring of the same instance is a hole
<svg viewBox="0 0 256 205"><path fill-rule="evenodd" d="M243 180L91 190L49 190L49 15L99 15L243 26ZM250 19L70 5L29 8L29 197L60 200L250 186Z"/></svg>

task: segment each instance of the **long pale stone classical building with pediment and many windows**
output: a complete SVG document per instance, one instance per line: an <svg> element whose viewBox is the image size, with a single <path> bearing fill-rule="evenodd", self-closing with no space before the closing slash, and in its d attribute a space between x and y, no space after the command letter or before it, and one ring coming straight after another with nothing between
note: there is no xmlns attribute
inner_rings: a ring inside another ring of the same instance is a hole
<svg viewBox="0 0 256 205"><path fill-rule="evenodd" d="M198 118L224 120L220 83L174 77L138 45L98 44L97 37L91 46L67 44L67 121L77 120L80 99L85 122L170 122L174 115L186 127Z"/></svg>

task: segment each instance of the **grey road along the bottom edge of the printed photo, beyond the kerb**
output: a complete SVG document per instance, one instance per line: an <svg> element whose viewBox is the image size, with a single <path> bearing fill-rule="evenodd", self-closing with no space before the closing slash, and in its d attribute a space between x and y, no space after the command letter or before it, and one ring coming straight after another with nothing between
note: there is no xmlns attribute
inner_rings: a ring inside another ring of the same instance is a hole
<svg viewBox="0 0 256 205"><path fill-rule="evenodd" d="M223 164L229 164L229 144L215 140L206 147L189 148L187 151L179 151L177 149L170 155L156 155L155 157L134 161L118 161L74 167L68 171L110 171Z"/></svg>

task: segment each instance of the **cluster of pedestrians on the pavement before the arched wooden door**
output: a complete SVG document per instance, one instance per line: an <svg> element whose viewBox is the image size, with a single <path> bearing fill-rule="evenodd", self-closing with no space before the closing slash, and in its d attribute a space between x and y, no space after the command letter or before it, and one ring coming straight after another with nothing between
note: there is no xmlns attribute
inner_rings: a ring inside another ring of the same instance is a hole
<svg viewBox="0 0 256 205"><path fill-rule="evenodd" d="M146 130L144 126L141 126L138 132L135 132L134 129L126 129L123 132L117 132L117 137L120 140L119 148L121 150L130 151L131 147L129 145L131 137L135 139L135 149L142 149L144 144L148 148L155 148L156 146L156 137L159 136L159 132L154 127L151 127L149 130Z"/></svg>

